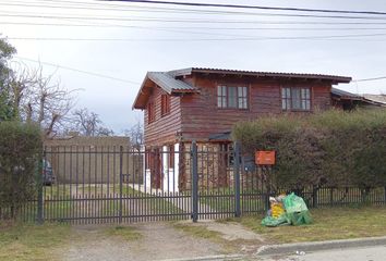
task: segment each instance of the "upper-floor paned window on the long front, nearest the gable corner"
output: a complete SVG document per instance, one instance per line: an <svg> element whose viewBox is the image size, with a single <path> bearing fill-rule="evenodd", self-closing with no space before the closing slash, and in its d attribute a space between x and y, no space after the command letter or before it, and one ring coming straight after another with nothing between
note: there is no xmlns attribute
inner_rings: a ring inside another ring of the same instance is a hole
<svg viewBox="0 0 386 261"><path fill-rule="evenodd" d="M248 109L248 87L217 86L217 107Z"/></svg>

